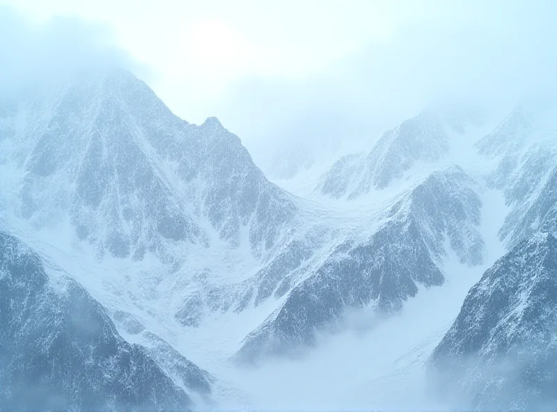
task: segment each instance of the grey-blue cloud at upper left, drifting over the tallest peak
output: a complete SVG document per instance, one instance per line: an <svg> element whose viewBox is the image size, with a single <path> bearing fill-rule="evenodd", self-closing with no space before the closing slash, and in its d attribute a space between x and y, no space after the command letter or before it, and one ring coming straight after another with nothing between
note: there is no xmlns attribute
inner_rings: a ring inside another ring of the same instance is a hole
<svg viewBox="0 0 557 412"><path fill-rule="evenodd" d="M123 68L150 79L152 71L116 44L110 26L75 17L33 22L0 4L0 93L64 81L78 72Z"/></svg>

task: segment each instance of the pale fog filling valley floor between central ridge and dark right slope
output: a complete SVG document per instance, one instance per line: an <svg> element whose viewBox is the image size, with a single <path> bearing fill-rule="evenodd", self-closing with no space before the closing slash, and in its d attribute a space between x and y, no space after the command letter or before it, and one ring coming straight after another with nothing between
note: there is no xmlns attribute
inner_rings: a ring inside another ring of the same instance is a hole
<svg viewBox="0 0 557 412"><path fill-rule="evenodd" d="M381 318L353 310L317 333L301 358L277 358L221 374L262 411L442 411L426 387L425 364L480 270L453 264L448 283L421 290L404 310ZM439 310L443 308L443 310Z"/></svg>

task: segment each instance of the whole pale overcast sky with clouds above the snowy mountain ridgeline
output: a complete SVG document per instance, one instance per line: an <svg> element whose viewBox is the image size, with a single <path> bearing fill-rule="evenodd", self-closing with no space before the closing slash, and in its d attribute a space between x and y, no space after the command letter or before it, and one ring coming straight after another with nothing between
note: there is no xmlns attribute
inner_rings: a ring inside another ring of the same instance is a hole
<svg viewBox="0 0 557 412"><path fill-rule="evenodd" d="M0 28L13 49L112 47L180 117L217 116L252 152L362 138L448 96L504 100L556 68L551 0L0 3L26 20Z"/></svg>

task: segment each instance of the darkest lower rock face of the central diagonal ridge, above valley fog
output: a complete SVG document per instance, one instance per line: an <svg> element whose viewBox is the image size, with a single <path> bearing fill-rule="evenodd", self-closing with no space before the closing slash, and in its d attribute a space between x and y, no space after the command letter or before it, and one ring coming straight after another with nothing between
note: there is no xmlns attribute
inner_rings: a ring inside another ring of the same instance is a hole
<svg viewBox="0 0 557 412"><path fill-rule="evenodd" d="M271 318L248 335L237 359L256 361L266 354L293 353L315 344L315 331L340 320L349 308L375 304L379 311L398 310L418 292L418 279L440 285L443 274L423 243L398 244L405 235L416 235L415 230L390 223L365 244L338 246L315 273L290 291ZM416 259L400 260L410 255Z"/></svg>

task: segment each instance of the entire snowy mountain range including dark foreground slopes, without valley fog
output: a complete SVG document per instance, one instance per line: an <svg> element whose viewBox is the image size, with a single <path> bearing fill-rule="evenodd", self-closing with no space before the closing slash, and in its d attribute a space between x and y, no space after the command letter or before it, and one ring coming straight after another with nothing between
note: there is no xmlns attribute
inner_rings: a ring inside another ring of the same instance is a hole
<svg viewBox="0 0 557 412"><path fill-rule="evenodd" d="M353 311L390 322L446 288L450 259L487 271L425 362L434 392L488 409L553 402L551 113L426 110L273 183L217 118L189 124L130 72L1 98L0 405L250 405L219 365L303 358ZM503 256L489 193L506 205ZM485 366L530 344L530 369Z"/></svg>

